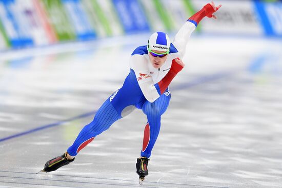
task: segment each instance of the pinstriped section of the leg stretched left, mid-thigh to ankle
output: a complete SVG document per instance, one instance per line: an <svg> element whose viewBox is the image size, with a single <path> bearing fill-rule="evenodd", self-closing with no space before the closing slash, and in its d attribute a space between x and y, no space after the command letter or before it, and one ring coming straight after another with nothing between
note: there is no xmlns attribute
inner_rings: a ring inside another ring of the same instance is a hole
<svg viewBox="0 0 282 188"><path fill-rule="evenodd" d="M80 131L72 146L69 147L67 150L69 155L76 156L96 135L109 129L111 124L120 118L122 116L117 113L110 100L107 99L95 114L93 121Z"/></svg>

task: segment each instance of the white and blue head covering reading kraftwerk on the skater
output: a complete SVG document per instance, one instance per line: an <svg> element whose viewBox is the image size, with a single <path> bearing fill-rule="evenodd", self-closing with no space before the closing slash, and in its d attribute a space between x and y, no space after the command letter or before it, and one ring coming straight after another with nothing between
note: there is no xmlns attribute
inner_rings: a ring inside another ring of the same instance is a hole
<svg viewBox="0 0 282 188"><path fill-rule="evenodd" d="M153 33L148 40L148 49L158 51L169 51L170 39L164 32Z"/></svg>

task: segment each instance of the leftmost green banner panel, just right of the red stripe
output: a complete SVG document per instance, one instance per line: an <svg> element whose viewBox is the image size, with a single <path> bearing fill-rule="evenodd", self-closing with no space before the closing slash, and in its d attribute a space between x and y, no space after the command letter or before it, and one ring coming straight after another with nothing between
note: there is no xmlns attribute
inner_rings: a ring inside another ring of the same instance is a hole
<svg viewBox="0 0 282 188"><path fill-rule="evenodd" d="M76 38L75 29L70 23L62 2L60 0L41 0L41 2L58 40L74 40Z"/></svg>

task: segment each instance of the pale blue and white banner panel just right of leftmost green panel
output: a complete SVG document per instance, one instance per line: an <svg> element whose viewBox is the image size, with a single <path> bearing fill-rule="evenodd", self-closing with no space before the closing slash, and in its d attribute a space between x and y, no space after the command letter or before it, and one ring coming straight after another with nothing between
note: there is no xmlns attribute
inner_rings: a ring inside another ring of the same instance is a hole
<svg viewBox="0 0 282 188"><path fill-rule="evenodd" d="M62 0L71 24L74 26L76 38L89 40L95 38L95 33L90 24L89 17L79 0Z"/></svg>

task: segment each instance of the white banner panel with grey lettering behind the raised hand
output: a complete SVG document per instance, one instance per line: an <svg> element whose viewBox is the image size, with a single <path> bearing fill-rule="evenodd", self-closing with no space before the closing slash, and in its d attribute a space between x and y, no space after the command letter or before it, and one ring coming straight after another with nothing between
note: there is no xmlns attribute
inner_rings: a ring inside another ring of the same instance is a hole
<svg viewBox="0 0 282 188"><path fill-rule="evenodd" d="M207 1L192 0L192 3L196 10L200 10ZM199 24L203 32L252 36L264 34L253 1L216 1L216 5L219 4L223 7L215 13L217 19L204 18Z"/></svg>

